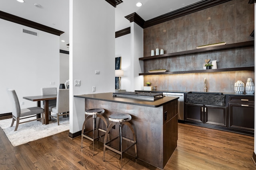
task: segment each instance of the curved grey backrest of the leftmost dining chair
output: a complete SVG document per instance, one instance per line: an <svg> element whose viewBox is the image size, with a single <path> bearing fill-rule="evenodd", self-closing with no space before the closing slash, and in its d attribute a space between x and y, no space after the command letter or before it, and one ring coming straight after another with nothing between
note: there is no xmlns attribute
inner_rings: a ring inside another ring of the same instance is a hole
<svg viewBox="0 0 256 170"><path fill-rule="evenodd" d="M20 117L20 102L15 90L8 89L7 92L12 103L12 115Z"/></svg>

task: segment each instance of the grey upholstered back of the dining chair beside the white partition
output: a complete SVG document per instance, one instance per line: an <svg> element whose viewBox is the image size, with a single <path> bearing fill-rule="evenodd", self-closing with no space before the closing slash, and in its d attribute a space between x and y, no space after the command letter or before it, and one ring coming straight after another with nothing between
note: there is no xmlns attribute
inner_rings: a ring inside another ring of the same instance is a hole
<svg viewBox="0 0 256 170"><path fill-rule="evenodd" d="M69 111L69 89L59 89L56 103L57 113Z"/></svg>

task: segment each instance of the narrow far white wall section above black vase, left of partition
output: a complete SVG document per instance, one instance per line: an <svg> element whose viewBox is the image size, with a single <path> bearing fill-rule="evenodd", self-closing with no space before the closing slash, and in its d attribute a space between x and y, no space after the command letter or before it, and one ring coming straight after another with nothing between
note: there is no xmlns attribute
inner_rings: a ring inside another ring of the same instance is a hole
<svg viewBox="0 0 256 170"><path fill-rule="evenodd" d="M60 84L69 80L69 55L60 53Z"/></svg>

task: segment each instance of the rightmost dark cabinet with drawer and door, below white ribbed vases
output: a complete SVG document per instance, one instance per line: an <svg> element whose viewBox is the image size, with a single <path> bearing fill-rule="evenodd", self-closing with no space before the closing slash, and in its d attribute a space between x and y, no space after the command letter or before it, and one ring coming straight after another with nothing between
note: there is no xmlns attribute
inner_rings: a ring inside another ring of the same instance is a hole
<svg viewBox="0 0 256 170"><path fill-rule="evenodd" d="M254 96L229 96L229 128L254 132Z"/></svg>

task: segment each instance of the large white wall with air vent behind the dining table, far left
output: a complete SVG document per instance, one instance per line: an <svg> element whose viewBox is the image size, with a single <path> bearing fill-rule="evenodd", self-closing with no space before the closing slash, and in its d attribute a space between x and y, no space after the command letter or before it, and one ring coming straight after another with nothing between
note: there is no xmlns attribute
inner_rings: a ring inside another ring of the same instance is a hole
<svg viewBox="0 0 256 170"><path fill-rule="evenodd" d="M36 106L22 97L40 95L41 87L59 87L59 36L2 19L0 25L0 113L12 112L8 88L24 102L21 108ZM38 36L22 33L22 28Z"/></svg>

